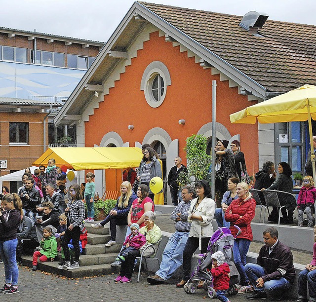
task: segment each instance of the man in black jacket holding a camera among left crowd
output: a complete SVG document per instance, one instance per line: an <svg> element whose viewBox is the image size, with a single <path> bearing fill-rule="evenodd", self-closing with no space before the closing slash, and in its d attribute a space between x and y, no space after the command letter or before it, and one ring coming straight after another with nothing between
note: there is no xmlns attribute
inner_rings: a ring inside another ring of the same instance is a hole
<svg viewBox="0 0 316 302"><path fill-rule="evenodd" d="M35 222L35 213L32 211L40 204L40 192L34 188L34 178L29 177L25 180L25 188L20 191L23 213Z"/></svg>

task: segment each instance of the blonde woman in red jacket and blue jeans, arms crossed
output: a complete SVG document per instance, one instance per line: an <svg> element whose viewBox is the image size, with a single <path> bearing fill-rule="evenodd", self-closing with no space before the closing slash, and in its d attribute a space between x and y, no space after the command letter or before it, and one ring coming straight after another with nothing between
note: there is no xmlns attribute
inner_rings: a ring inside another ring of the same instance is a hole
<svg viewBox="0 0 316 302"><path fill-rule="evenodd" d="M246 293L253 291L249 279L245 274L244 266L246 264L246 255L252 241L252 230L250 223L255 217L256 202L249 192L246 183L237 185L238 198L233 200L228 210L225 212L225 220L231 223L230 230L234 236L237 234L238 226L241 233L237 236L234 243L234 262L240 275L238 293Z"/></svg>

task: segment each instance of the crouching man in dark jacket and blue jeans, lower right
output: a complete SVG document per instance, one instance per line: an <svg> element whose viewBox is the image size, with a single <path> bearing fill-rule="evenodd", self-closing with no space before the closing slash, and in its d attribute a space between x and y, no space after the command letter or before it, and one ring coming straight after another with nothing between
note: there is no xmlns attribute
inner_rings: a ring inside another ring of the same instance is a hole
<svg viewBox="0 0 316 302"><path fill-rule="evenodd" d="M284 291L291 287L295 278L293 255L291 250L278 240L278 232L274 227L263 231L265 245L260 249L257 264L245 265L245 272L255 291L246 296L249 300L282 299Z"/></svg>

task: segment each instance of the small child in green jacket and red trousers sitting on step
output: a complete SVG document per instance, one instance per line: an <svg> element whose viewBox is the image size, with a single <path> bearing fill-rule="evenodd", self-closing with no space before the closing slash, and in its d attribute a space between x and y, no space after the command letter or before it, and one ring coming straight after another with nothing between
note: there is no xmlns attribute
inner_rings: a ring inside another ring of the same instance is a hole
<svg viewBox="0 0 316 302"><path fill-rule="evenodd" d="M40 257L40 262L46 262L50 258L53 262L54 258L57 256L57 241L55 236L52 235L51 227L43 228L43 238L40 240L40 251L36 251L33 254L33 268L32 270L38 269L38 258Z"/></svg>

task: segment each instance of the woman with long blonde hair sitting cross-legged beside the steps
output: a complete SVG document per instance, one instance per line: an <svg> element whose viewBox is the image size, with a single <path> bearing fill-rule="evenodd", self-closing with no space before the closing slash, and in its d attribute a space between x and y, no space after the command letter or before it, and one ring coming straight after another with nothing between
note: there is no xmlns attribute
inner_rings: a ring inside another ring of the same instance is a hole
<svg viewBox="0 0 316 302"><path fill-rule="evenodd" d="M118 197L118 202L114 209L112 209L109 215L104 221L97 224L92 224L93 228L103 228L108 222L110 222L111 237L105 246L111 246L116 244L117 226L127 225L127 215L133 201L137 198L132 191L132 186L129 182L122 182L120 185L121 195Z"/></svg>

